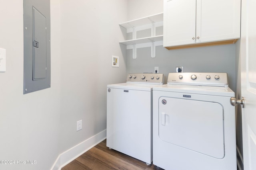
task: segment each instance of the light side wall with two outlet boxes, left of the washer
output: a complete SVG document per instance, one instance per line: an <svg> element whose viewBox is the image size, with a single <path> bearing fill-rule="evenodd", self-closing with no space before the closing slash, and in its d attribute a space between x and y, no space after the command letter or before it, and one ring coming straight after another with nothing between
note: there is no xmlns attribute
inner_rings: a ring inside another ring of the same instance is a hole
<svg viewBox="0 0 256 170"><path fill-rule="evenodd" d="M60 152L106 129L107 84L126 80L126 0L62 0ZM112 55L120 67L112 67ZM82 130L76 121L82 119Z"/></svg>

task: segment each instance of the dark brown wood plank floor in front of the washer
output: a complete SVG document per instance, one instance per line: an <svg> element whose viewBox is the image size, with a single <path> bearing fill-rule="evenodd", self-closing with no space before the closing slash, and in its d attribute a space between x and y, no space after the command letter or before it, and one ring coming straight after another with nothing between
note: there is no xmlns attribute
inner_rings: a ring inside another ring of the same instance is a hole
<svg viewBox="0 0 256 170"><path fill-rule="evenodd" d="M146 165L138 159L106 147L106 140L88 150L61 170L163 170L154 164Z"/></svg>

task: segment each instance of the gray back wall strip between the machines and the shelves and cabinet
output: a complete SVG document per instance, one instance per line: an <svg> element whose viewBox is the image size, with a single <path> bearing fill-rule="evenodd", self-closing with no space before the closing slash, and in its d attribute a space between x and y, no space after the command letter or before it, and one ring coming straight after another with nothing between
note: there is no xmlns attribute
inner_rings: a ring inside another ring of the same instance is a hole
<svg viewBox="0 0 256 170"><path fill-rule="evenodd" d="M184 72L226 72L229 87L236 90L235 58L236 46L218 45L168 51L163 46L156 47L156 57L150 57L150 47L137 49L137 59L132 59L132 50L127 50L127 72L159 72L165 82L169 72L176 72L176 66L183 66Z"/></svg>

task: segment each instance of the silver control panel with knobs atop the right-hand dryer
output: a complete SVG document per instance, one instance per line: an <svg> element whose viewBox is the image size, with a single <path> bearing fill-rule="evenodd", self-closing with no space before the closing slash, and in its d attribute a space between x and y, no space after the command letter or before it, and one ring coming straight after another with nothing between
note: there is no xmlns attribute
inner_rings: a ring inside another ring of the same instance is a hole
<svg viewBox="0 0 256 170"><path fill-rule="evenodd" d="M228 87L228 75L223 72L174 72L168 74L167 84Z"/></svg>

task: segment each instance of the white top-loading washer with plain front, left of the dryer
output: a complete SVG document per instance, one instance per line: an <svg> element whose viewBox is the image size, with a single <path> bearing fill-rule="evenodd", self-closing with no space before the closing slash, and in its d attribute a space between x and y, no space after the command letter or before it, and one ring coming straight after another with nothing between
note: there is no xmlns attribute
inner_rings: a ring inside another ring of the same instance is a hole
<svg viewBox="0 0 256 170"><path fill-rule="evenodd" d="M152 88L163 74L128 74L107 86L107 147L151 164Z"/></svg>

